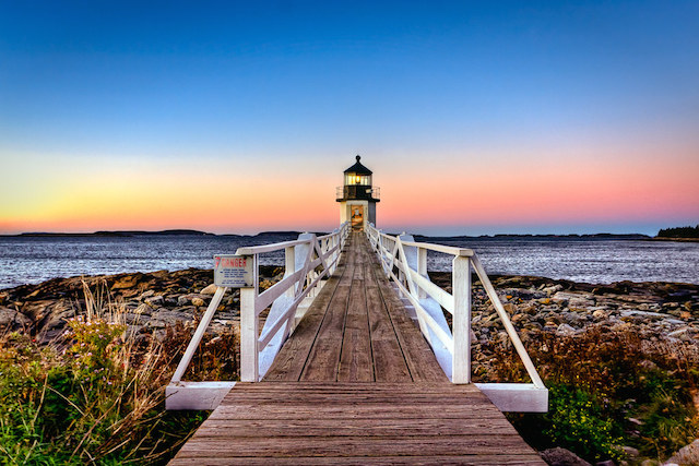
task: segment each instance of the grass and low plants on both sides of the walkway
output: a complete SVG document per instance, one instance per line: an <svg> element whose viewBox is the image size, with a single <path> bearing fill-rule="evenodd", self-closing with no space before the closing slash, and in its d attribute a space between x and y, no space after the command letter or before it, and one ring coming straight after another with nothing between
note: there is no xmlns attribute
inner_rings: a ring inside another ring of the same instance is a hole
<svg viewBox="0 0 699 466"><path fill-rule="evenodd" d="M0 463L165 464L208 416L164 406L192 330L169 327L162 340L129 333L104 285L83 292L81 318L52 345L0 337ZM233 331L205 337L185 380L235 380L237 340ZM498 357L485 373L476 365L476 379L528 381L507 340L488 345ZM508 417L535 449L562 446L596 462L623 458L625 445L660 459L699 435L696 344L595 326L531 334L528 346L549 411Z"/></svg>

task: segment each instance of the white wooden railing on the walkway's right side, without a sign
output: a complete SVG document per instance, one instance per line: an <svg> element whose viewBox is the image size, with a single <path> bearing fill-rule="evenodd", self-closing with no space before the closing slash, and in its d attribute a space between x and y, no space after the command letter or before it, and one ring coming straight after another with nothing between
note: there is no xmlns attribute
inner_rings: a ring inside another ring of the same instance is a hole
<svg viewBox="0 0 699 466"><path fill-rule="evenodd" d="M415 242L410 235L390 236L368 225L366 234L383 267L401 295L415 310L415 319L430 344L439 365L453 383L471 382L471 270L473 268L493 302L517 349L532 383L476 384L505 411L547 410L548 390L542 382L502 307L488 275L471 249ZM452 292L435 285L427 275L427 251L453 256ZM451 328L442 308L452 316Z"/></svg>

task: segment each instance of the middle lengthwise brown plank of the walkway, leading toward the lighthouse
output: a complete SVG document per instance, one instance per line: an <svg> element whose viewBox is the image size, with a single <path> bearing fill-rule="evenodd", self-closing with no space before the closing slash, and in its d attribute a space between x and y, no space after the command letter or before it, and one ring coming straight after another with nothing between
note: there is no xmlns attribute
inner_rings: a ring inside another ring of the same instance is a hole
<svg viewBox="0 0 699 466"><path fill-rule="evenodd" d="M360 259L360 258L359 258ZM347 304L337 382L374 381L369 320L362 261L357 261Z"/></svg>

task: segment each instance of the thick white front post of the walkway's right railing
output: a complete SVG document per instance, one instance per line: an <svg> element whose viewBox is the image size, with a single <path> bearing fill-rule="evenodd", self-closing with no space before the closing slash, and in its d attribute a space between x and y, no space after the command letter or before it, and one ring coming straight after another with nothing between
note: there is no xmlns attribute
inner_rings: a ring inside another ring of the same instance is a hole
<svg viewBox="0 0 699 466"><path fill-rule="evenodd" d="M452 265L451 289L454 297L452 333L452 383L471 383L471 261L457 255Z"/></svg>

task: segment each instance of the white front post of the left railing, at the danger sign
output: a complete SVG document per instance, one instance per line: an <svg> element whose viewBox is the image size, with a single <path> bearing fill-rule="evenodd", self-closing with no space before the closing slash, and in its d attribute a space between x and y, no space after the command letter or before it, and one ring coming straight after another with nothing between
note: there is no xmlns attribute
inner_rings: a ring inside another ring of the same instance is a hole
<svg viewBox="0 0 699 466"><path fill-rule="evenodd" d="M240 381L259 382L260 363L258 339L260 322L256 311L258 296L258 256L252 256L253 286L240 288Z"/></svg>

